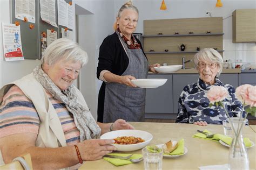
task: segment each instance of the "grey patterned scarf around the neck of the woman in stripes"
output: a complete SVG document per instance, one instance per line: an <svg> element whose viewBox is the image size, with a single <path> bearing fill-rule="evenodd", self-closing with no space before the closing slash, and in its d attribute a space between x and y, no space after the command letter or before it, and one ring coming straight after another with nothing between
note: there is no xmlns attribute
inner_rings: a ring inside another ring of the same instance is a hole
<svg viewBox="0 0 256 170"><path fill-rule="evenodd" d="M68 89L61 91L50 77L44 73L41 65L33 69L33 75L45 90L49 91L54 98L63 102L68 111L71 112L77 129L80 131L80 141L99 138L101 130L92 117L90 110L77 102L76 89L73 84Z"/></svg>

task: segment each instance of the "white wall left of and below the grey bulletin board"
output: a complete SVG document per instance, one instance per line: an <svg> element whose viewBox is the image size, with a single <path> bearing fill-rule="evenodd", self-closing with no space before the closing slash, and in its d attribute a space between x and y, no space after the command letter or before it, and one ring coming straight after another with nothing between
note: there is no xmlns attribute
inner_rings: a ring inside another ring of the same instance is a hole
<svg viewBox="0 0 256 170"><path fill-rule="evenodd" d="M10 4L9 0L1 0L1 18L0 23L10 23ZM0 31L0 87L4 84L17 80L22 76L32 72L33 68L40 62L38 60L8 61L4 60L2 24Z"/></svg>

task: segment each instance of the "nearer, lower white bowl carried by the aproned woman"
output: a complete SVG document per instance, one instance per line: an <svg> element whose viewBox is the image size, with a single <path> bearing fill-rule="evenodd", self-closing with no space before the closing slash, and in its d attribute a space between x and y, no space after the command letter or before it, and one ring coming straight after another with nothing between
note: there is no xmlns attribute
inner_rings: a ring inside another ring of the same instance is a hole
<svg viewBox="0 0 256 170"><path fill-rule="evenodd" d="M156 88L163 86L167 79L136 79L131 81L140 88Z"/></svg>

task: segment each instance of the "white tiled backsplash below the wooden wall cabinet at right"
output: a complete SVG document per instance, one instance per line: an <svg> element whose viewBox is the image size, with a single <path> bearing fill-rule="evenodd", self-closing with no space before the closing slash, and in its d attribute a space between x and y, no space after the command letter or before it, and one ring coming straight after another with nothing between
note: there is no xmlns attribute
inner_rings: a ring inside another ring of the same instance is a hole
<svg viewBox="0 0 256 170"><path fill-rule="evenodd" d="M233 43L232 39L224 39L223 49L224 60L230 59L235 65L246 64L256 68L256 43Z"/></svg>

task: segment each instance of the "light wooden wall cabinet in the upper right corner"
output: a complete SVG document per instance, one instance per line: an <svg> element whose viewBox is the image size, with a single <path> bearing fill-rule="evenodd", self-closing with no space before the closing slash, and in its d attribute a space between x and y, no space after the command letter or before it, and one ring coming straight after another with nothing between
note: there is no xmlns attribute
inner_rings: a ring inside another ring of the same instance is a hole
<svg viewBox="0 0 256 170"><path fill-rule="evenodd" d="M233 42L256 42L256 9L235 10L233 16Z"/></svg>

